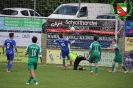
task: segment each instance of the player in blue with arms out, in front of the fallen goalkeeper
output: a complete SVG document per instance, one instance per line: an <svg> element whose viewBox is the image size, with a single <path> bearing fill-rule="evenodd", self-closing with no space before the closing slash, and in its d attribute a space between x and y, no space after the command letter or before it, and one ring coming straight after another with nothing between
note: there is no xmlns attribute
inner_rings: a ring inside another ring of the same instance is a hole
<svg viewBox="0 0 133 88"><path fill-rule="evenodd" d="M77 39L75 39L75 40L77 40ZM69 57L68 56L68 54L69 54L68 44L70 44L71 41L64 38L63 34L59 34L59 39L55 40L55 42L59 43L59 45L60 45L61 52L62 52L62 58L63 58L63 66L64 66L63 69L66 70L65 57Z"/></svg>

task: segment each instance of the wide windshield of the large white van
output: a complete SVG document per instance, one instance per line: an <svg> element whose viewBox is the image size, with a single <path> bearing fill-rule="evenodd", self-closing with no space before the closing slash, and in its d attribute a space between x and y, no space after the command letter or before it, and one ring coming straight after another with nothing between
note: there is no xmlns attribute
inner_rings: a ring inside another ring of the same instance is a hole
<svg viewBox="0 0 133 88"><path fill-rule="evenodd" d="M62 15L76 15L78 11L78 6L63 5L53 12L53 14Z"/></svg>

